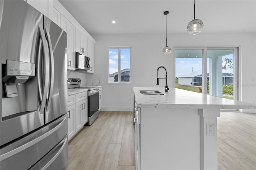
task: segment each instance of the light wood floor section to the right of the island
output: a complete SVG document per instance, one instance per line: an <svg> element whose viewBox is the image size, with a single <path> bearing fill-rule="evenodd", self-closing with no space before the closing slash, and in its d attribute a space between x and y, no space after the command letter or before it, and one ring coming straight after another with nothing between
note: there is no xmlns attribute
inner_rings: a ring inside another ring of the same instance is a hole
<svg viewBox="0 0 256 170"><path fill-rule="evenodd" d="M256 170L256 114L221 112L218 170Z"/></svg>

